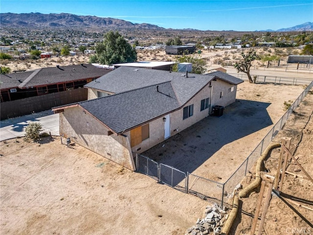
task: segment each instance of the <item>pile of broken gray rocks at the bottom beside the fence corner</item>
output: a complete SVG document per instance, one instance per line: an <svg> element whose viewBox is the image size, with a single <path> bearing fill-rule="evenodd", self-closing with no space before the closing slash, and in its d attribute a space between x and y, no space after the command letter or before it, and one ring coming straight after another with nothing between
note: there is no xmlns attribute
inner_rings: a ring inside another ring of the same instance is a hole
<svg viewBox="0 0 313 235"><path fill-rule="evenodd" d="M205 218L198 219L196 225L187 230L187 235L219 235L222 233L222 227L228 218L225 207L219 207L216 203L213 206L207 206L205 215Z"/></svg>

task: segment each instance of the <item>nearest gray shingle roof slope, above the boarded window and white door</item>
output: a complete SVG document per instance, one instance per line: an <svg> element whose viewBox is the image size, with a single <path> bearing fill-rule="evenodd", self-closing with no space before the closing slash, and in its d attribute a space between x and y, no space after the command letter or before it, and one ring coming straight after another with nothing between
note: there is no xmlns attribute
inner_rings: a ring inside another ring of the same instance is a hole
<svg viewBox="0 0 313 235"><path fill-rule="evenodd" d="M122 133L180 107L169 81L78 104L115 133Z"/></svg>

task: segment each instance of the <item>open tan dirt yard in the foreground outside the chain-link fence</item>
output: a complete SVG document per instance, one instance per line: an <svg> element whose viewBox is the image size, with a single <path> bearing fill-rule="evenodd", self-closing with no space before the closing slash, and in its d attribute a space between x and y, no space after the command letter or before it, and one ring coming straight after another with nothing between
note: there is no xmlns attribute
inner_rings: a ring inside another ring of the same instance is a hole
<svg viewBox="0 0 313 235"><path fill-rule="evenodd" d="M207 206L59 137L0 148L1 235L180 235Z"/></svg>

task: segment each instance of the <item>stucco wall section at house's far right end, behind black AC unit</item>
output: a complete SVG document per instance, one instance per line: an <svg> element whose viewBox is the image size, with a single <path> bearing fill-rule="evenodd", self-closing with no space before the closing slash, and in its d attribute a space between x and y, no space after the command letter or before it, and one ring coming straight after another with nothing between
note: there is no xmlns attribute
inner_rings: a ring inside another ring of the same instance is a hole
<svg viewBox="0 0 313 235"><path fill-rule="evenodd" d="M236 92L237 86L231 85L227 82L217 80L212 81L212 100L211 100L211 107L214 105L220 105L226 107L227 105L235 102L236 100ZM233 87L233 91L229 92L228 89ZM223 92L223 97L220 98L221 92Z"/></svg>

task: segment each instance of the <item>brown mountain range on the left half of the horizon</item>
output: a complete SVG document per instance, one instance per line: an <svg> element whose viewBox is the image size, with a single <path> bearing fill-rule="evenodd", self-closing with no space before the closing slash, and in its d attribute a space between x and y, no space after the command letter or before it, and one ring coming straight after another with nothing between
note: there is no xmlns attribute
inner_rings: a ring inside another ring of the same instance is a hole
<svg viewBox="0 0 313 235"><path fill-rule="evenodd" d="M101 18L96 16L77 16L68 13L0 13L1 26L9 27L108 27L134 29L164 29L154 24L133 24L128 21Z"/></svg>

